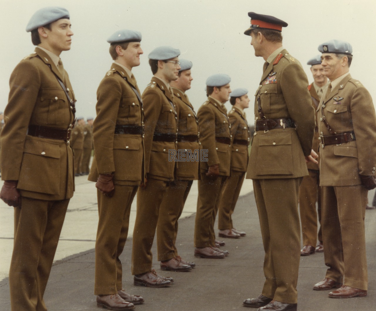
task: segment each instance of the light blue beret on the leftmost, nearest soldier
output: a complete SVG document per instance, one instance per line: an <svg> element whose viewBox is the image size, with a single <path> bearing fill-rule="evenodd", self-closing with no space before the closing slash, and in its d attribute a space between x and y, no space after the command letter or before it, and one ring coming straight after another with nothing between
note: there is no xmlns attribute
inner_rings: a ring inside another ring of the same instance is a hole
<svg viewBox="0 0 376 311"><path fill-rule="evenodd" d="M26 26L26 31L30 32L38 27L57 21L60 18L69 18L67 9L60 6L47 6L46 8L39 9L30 18Z"/></svg>

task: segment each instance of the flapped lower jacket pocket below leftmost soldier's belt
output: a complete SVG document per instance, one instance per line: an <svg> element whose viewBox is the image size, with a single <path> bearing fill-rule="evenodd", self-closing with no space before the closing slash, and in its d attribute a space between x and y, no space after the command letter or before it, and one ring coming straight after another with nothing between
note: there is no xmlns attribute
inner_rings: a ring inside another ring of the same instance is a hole
<svg viewBox="0 0 376 311"><path fill-rule="evenodd" d="M59 195L60 149L58 143L26 139L18 188Z"/></svg>

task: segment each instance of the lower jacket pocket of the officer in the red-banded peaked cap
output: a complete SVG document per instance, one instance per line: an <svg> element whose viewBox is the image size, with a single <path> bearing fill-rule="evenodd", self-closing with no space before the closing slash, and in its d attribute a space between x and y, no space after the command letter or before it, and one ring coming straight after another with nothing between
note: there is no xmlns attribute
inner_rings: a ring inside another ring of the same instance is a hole
<svg viewBox="0 0 376 311"><path fill-rule="evenodd" d="M292 159L290 133L264 134L259 137L257 175L292 175Z"/></svg>

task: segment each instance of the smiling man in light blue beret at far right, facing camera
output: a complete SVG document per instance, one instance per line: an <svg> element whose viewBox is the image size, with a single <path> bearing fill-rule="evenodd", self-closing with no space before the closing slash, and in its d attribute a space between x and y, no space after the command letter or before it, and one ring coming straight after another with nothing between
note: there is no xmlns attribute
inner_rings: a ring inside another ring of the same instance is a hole
<svg viewBox="0 0 376 311"><path fill-rule="evenodd" d="M376 186L375 111L368 91L349 73L351 45L331 40L318 50L331 81L318 106L321 226L329 268L314 290L338 288L329 297L363 297L368 284L365 206L367 189Z"/></svg>

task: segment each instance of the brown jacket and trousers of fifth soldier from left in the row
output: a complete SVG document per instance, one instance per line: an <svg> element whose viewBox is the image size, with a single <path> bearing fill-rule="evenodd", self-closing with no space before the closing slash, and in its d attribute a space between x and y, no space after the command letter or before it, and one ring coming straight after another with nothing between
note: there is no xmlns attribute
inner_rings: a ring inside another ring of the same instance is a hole
<svg viewBox="0 0 376 311"><path fill-rule="evenodd" d="M201 148L208 150L208 161L200 162L201 179L194 230L195 247L214 247L214 222L220 202L220 194L227 176L230 175L231 143L230 123L224 105L211 96L197 112L200 127ZM218 142L220 140L221 142ZM228 143L225 140L228 140ZM202 159L201 159L202 160ZM209 166L219 165L219 176L213 180L205 175Z"/></svg>

